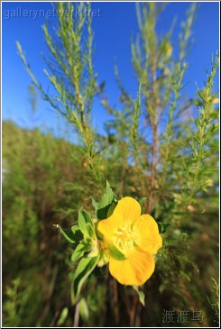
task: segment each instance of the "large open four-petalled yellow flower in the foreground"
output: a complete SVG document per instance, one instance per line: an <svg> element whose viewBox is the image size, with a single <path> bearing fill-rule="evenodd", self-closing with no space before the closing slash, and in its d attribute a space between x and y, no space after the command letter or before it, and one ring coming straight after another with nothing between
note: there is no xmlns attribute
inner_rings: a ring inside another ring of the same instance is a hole
<svg viewBox="0 0 221 329"><path fill-rule="evenodd" d="M152 276L153 255L162 246L158 225L151 215L141 215L141 206L125 196L113 215L99 222L98 231L106 245L113 244L124 254L124 260L109 256L110 273L123 285L141 286Z"/></svg>

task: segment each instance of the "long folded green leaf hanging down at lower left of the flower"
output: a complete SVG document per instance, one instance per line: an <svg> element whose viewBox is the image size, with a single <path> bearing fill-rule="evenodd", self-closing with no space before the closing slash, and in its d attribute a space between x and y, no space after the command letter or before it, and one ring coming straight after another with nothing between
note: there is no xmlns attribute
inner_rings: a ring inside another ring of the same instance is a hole
<svg viewBox="0 0 221 329"><path fill-rule="evenodd" d="M94 258L82 258L78 263L78 268L75 271L73 284L72 284L72 302L76 303L80 290L90 275L90 273L95 269L97 265L98 257Z"/></svg>

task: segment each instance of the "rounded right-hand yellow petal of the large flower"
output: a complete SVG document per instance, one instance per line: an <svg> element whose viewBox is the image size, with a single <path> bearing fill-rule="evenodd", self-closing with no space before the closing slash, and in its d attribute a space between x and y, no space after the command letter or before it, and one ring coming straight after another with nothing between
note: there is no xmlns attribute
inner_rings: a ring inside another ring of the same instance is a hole
<svg viewBox="0 0 221 329"><path fill-rule="evenodd" d="M158 224L151 215L142 215L133 225L133 240L143 249L151 253L157 253L162 246Z"/></svg>

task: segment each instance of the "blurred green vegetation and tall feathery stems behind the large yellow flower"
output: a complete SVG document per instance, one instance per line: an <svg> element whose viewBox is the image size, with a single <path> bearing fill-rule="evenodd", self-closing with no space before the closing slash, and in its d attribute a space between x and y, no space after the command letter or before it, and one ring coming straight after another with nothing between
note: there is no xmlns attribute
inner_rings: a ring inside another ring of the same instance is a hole
<svg viewBox="0 0 221 329"><path fill-rule="evenodd" d="M86 6L90 10L85 4L78 9ZM71 13L71 4L58 3L58 9ZM43 26L52 95L42 89L17 43L32 78L32 114L36 89L75 129L78 143L3 123L5 326L163 326L169 310L202 315L169 326L218 326L218 107L213 90L218 58L205 73L204 87L196 87L196 97L188 99L183 78L196 7L189 7L182 25L178 56L172 28L163 38L156 33L162 9L154 3L136 8L139 34L131 51L137 96L124 89L115 66L116 107L97 84L90 16L73 21L71 14L60 15L56 32ZM111 114L105 136L91 124L97 95ZM143 210L161 228L163 248L142 288L145 306L107 268L96 269L78 303L71 303L73 248L53 224L75 224L81 206L92 213L90 196L104 194L106 179L118 197L145 197Z"/></svg>

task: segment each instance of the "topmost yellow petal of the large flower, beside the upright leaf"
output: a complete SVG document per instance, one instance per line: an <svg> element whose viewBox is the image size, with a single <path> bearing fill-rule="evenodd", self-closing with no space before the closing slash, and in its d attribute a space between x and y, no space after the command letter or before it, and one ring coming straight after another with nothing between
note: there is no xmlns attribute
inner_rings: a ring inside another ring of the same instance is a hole
<svg viewBox="0 0 221 329"><path fill-rule="evenodd" d="M122 218L124 224L133 224L141 212L139 203L133 197L125 196L118 202L113 215Z"/></svg>

